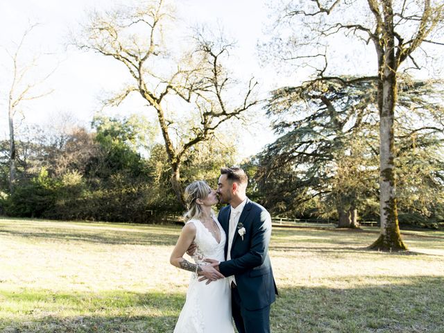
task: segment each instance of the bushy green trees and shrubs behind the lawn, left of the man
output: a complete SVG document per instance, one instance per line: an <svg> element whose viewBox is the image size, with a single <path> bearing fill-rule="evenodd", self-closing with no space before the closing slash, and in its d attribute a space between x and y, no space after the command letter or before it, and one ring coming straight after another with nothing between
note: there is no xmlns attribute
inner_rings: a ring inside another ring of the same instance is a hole
<svg viewBox="0 0 444 333"><path fill-rule="evenodd" d="M182 212L169 179L167 152L143 117L96 117L92 130L34 126L17 146L15 189L8 191L8 142L1 142L1 210L8 216L147 222L155 211ZM151 137L147 135L151 133ZM182 182L207 179L233 163L231 144L194 146Z"/></svg>

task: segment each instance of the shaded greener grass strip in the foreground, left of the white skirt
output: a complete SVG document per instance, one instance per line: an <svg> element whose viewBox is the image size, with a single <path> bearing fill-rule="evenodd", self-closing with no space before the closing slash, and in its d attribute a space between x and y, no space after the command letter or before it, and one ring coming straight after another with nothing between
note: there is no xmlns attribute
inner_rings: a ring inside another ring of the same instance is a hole
<svg viewBox="0 0 444 333"><path fill-rule="evenodd" d="M172 332L182 293L0 290L0 332ZM2 305L1 305L2 304Z"/></svg>

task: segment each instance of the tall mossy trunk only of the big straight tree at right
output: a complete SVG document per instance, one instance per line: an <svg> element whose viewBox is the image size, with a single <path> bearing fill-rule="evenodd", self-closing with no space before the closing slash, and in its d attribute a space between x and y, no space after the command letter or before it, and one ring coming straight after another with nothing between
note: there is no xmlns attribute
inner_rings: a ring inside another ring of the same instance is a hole
<svg viewBox="0 0 444 333"><path fill-rule="evenodd" d="M379 49L379 210L381 214L381 234L370 248L376 250L406 250L401 239L396 207L396 187L394 167L393 120L398 99L396 71L398 62L395 58L395 37L393 31L393 10L384 8L384 56Z"/></svg>

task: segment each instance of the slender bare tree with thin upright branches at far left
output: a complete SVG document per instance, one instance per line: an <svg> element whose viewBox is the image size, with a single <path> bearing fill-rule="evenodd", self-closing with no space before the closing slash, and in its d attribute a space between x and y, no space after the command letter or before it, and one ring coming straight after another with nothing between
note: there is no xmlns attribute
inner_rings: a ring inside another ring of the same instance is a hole
<svg viewBox="0 0 444 333"><path fill-rule="evenodd" d="M24 55L24 45L31 32L38 26L38 24L32 24L26 31L24 31L22 38L15 44L15 50L10 52L6 50L12 60L12 82L8 92L8 123L9 123L9 187L10 192L14 190L16 175L16 148L15 148L15 117L17 112L20 112L20 106L26 101L40 99L48 94L51 94L52 90L46 90L42 92L41 85L46 81L49 76L53 74L53 71L49 71L49 74L44 74L35 78L32 71L39 67L39 56L33 55L31 61L22 61L21 57ZM23 115L23 113L22 113Z"/></svg>

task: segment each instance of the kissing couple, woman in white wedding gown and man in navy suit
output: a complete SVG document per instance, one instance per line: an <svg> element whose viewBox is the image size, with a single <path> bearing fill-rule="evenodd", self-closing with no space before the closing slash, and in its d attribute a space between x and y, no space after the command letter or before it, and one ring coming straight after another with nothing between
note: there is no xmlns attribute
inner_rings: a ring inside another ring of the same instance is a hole
<svg viewBox="0 0 444 333"><path fill-rule="evenodd" d="M271 217L246 197L247 184L244 170L223 168L217 191L203 180L185 189L187 222L170 262L194 274L175 333L231 333L232 318L239 333L270 332L278 294L268 255ZM216 218L219 200L229 205Z"/></svg>

